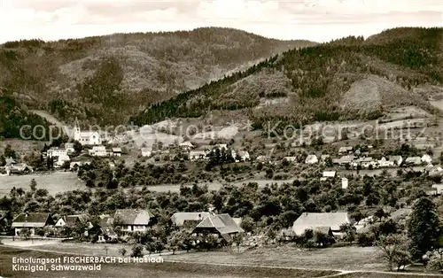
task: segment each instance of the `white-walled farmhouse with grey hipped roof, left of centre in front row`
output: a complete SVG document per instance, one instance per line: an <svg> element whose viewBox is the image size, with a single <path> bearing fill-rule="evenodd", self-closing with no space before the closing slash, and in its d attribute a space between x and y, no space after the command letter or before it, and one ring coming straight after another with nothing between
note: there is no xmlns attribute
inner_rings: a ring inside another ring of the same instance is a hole
<svg viewBox="0 0 443 278"><path fill-rule="evenodd" d="M148 210L124 209L114 214L114 224L122 232L144 232L155 223L155 216Z"/></svg>

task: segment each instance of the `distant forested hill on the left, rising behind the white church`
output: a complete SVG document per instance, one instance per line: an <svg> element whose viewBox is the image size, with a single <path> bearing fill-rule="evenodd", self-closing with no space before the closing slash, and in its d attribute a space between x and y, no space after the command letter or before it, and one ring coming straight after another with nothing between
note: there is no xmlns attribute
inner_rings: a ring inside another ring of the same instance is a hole
<svg viewBox="0 0 443 278"><path fill-rule="evenodd" d="M60 120L121 124L149 104L198 88L307 41L278 41L244 31L116 34L0 45L0 89Z"/></svg>

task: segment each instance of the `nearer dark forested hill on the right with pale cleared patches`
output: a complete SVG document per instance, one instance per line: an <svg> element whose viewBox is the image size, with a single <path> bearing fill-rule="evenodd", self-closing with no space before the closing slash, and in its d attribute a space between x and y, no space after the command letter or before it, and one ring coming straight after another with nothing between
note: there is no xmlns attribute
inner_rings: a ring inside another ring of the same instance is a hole
<svg viewBox="0 0 443 278"><path fill-rule="evenodd" d="M257 66L207 83L132 120L138 125L209 110L241 110L255 126L265 120L373 119L413 104L432 110L414 90L443 81L443 28L395 28L289 50Z"/></svg>

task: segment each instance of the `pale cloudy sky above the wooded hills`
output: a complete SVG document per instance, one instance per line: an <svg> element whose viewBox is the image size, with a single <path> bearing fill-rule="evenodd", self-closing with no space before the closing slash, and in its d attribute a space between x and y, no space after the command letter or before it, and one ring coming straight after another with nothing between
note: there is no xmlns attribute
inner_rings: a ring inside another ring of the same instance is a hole
<svg viewBox="0 0 443 278"><path fill-rule="evenodd" d="M327 42L404 26L443 27L443 0L0 0L0 43L196 27Z"/></svg>

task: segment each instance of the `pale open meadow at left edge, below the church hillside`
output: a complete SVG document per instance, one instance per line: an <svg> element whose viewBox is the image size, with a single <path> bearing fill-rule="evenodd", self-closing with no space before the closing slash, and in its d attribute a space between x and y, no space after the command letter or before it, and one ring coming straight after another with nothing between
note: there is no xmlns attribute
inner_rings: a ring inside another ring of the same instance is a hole
<svg viewBox="0 0 443 278"><path fill-rule="evenodd" d="M0 176L0 196L9 194L13 187L28 189L32 179L37 181L38 189L47 189L51 195L74 189L86 189L76 173L54 172L53 174L27 174Z"/></svg>

